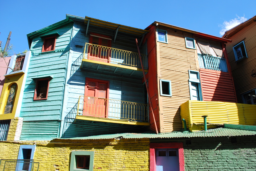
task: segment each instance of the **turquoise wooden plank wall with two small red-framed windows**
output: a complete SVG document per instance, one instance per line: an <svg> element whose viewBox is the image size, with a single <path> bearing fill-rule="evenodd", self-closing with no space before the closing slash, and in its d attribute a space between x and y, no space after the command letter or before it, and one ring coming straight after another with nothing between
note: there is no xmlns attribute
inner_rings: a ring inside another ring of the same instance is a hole
<svg viewBox="0 0 256 171"><path fill-rule="evenodd" d="M48 124L48 122L42 122L42 124L40 124L41 128L44 130L43 132L46 132L46 134L52 130L54 124L55 127L59 127L72 26L73 23L49 31L49 33L59 33L55 45L55 50L59 51L41 54L44 40L40 37L33 39L30 48L32 55L26 78L20 117L24 118L24 121L37 121L38 123L46 120L54 120L52 124ZM36 81L32 80L32 78L46 76L53 77L49 84L48 99L33 101ZM26 124L29 123L30 122L26 122ZM36 129L36 125L31 126L30 129L23 129L22 137L35 138L36 136L31 133L37 132ZM56 137L57 135L54 134L54 136ZM39 134L38 137L40 137Z"/></svg>

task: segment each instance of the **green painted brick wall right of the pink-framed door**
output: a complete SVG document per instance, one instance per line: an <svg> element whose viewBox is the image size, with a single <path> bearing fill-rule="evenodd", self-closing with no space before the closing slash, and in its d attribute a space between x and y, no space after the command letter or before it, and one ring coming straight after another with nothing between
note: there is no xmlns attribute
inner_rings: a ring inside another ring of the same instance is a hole
<svg viewBox="0 0 256 171"><path fill-rule="evenodd" d="M255 171L256 136L191 138L184 143L186 171Z"/></svg>

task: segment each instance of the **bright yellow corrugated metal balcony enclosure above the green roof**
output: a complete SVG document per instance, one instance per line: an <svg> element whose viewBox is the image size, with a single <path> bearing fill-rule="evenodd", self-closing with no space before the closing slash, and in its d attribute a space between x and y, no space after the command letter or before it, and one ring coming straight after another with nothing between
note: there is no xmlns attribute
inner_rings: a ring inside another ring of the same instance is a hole
<svg viewBox="0 0 256 171"><path fill-rule="evenodd" d="M223 124L255 125L255 111L256 105L219 101L189 100L180 105L181 119L186 120L190 131L204 130L204 115L209 128Z"/></svg>

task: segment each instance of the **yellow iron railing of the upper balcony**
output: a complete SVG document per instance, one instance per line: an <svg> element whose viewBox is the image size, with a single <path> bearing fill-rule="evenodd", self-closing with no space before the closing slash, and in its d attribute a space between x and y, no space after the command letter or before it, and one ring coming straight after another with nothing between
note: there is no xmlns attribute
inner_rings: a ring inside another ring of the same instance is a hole
<svg viewBox="0 0 256 171"><path fill-rule="evenodd" d="M85 43L84 59L141 68L139 53ZM144 69L148 69L147 55L141 54Z"/></svg>

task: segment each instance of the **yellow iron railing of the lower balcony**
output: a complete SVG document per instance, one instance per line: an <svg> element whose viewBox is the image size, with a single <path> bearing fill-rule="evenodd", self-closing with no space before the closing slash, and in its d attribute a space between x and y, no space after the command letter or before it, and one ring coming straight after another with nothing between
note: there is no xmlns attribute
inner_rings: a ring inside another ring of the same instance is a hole
<svg viewBox="0 0 256 171"><path fill-rule="evenodd" d="M77 115L148 122L148 105L114 99L80 96Z"/></svg>

